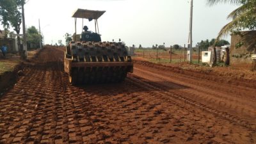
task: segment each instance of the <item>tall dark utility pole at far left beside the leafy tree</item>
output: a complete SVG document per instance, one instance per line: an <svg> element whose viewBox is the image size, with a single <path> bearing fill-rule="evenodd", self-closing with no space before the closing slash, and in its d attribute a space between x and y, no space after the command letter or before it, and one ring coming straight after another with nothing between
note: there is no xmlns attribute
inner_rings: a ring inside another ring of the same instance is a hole
<svg viewBox="0 0 256 144"><path fill-rule="evenodd" d="M25 13L24 13L24 4L25 0L22 1L21 10L22 10L22 30L23 30L23 47L21 49L22 59L27 57L27 39L26 39L26 28L25 28Z"/></svg>

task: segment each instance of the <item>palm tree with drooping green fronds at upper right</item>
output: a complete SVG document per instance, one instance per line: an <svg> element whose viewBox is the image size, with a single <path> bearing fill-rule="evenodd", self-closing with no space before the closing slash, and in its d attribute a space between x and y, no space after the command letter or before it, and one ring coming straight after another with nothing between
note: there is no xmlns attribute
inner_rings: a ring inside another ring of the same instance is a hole
<svg viewBox="0 0 256 144"><path fill-rule="evenodd" d="M216 42L220 40L221 37L227 36L228 33L237 33L243 29L256 29L256 1L255 0L207 0L207 3L212 6L218 3L230 3L239 4L239 7L231 12L227 19L232 19L228 22L219 32ZM245 39L244 39L245 40ZM214 59L213 63L216 64L216 49L214 46ZM256 42L245 42L250 47L250 49L255 47ZM255 49L255 48L254 48ZM255 50L256 51L256 50Z"/></svg>

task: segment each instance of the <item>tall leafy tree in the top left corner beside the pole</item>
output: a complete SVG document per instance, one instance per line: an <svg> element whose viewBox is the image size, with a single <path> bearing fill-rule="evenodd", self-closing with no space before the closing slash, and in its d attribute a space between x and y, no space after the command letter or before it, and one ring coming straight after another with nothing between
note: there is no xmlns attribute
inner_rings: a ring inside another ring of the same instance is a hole
<svg viewBox="0 0 256 144"><path fill-rule="evenodd" d="M0 1L0 21L4 28L12 28L18 34L18 48L20 49L20 24L22 22L22 13L20 12L24 0L1 0Z"/></svg>

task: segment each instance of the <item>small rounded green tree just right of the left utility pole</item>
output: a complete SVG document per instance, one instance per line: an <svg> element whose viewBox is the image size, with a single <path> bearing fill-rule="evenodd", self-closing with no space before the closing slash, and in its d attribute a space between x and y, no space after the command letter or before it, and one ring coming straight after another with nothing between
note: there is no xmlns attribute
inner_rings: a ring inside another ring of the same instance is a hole
<svg viewBox="0 0 256 144"><path fill-rule="evenodd" d="M36 44L36 45L40 44L40 33L35 28L35 26L31 26L28 28L27 36L28 36L27 41L29 44ZM42 40L42 37L41 37L41 40Z"/></svg>

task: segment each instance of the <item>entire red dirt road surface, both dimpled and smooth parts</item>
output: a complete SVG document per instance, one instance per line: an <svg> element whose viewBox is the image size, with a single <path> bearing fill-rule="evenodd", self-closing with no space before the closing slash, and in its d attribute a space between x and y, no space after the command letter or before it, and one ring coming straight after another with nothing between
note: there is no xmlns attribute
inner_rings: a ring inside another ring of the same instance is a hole
<svg viewBox="0 0 256 144"><path fill-rule="evenodd" d="M32 64L0 98L0 143L256 143L256 80L134 61L124 83L71 86L62 49Z"/></svg>

